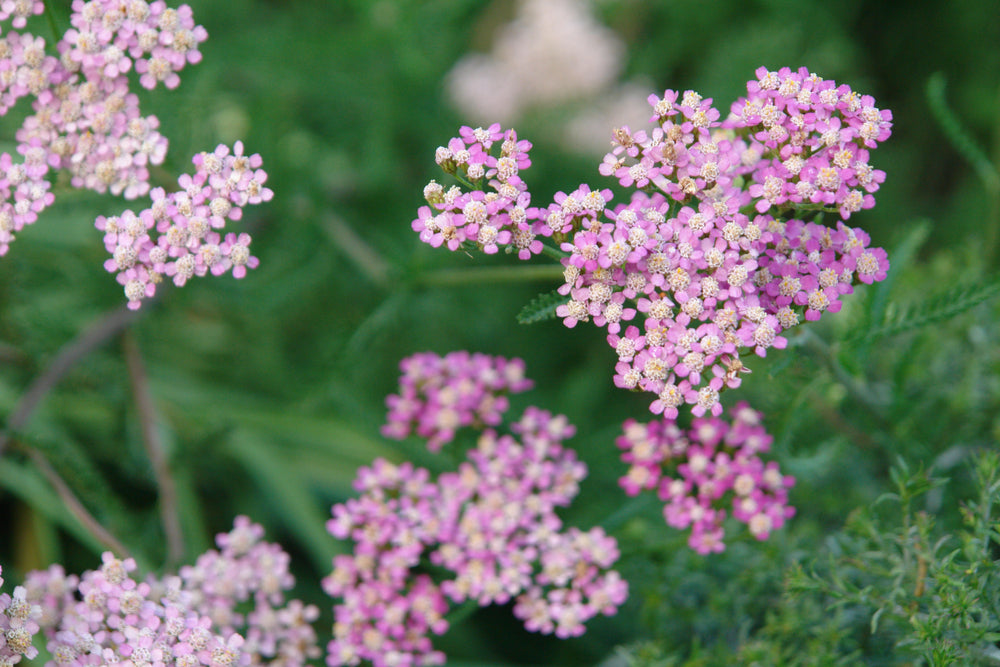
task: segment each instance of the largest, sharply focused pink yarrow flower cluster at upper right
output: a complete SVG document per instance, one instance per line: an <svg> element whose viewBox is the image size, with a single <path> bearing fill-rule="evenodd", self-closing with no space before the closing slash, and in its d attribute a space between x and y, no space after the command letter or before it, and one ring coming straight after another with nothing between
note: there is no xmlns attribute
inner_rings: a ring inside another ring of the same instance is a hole
<svg viewBox="0 0 1000 667"><path fill-rule="evenodd" d="M874 205L885 173L868 160L891 114L805 69L761 68L747 90L724 121L694 91L650 96L655 127L616 129L600 167L635 189L613 208L610 190L587 185L528 207L523 167L511 185L500 178L502 157L489 155L499 126L463 128L438 161L472 189L432 182L431 206L413 227L431 245L488 252L507 232L508 251L522 259L552 238L568 297L556 313L568 327L607 327L615 383L655 394L655 414L675 417L687 404L717 416L720 392L746 370L741 353L783 348L784 331L837 312L856 280L882 280L889 267L885 251L844 221ZM825 215L839 219L820 224ZM495 230L494 245L473 223Z"/></svg>

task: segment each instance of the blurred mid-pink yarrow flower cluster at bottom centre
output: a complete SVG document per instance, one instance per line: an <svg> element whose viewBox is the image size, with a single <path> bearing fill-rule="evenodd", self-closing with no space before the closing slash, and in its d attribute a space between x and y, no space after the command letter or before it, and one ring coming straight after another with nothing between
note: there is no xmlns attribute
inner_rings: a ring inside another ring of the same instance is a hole
<svg viewBox="0 0 1000 667"><path fill-rule="evenodd" d="M414 400L415 385L456 403L474 396L469 403L488 404L485 414L499 425L507 406L491 392L523 390L529 382L519 360L464 352L419 354L400 366L400 394L387 401L395 437L405 437L410 422L434 424L451 409L433 398ZM401 413L407 395L411 407ZM480 435L457 471L433 480L426 469L378 459L358 473L360 496L333 507L328 529L351 540L354 551L337 556L323 582L339 598L331 667L363 660L442 664L445 656L429 635L448 629L452 604L513 601L528 630L572 637L588 619L614 614L624 602L627 584L609 569L618 559L615 539L600 528L564 529L555 513L576 496L587 472L562 444L575 430L566 418L528 407L509 434L484 422L463 425ZM440 431L422 435L430 448L440 446Z"/></svg>

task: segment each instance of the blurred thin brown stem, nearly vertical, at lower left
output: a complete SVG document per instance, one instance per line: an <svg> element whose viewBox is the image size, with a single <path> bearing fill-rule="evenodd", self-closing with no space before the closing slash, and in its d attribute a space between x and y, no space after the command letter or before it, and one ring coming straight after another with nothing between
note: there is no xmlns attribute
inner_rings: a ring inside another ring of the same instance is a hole
<svg viewBox="0 0 1000 667"><path fill-rule="evenodd" d="M149 462L153 466L153 476L159 490L160 520L163 522L163 532L167 538L167 566L172 567L184 558L184 533L181 530L180 514L177 509L177 485L170 474L170 463L163 447L163 440L156 430L156 408L149 391L149 376L142 362L139 345L135 342L135 336L127 331L124 344L125 363L132 382L136 409L139 411L142 442L146 447Z"/></svg>

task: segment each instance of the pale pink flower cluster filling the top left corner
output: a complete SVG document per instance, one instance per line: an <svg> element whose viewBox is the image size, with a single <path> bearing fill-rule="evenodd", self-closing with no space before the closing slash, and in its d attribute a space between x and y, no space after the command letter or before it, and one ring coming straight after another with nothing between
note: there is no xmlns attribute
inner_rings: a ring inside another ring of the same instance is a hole
<svg viewBox="0 0 1000 667"><path fill-rule="evenodd" d="M4 2L0 20L13 17L21 29L43 10L38 1ZM50 169L67 170L74 187L129 199L149 190L147 167L163 162L167 140L156 117L140 113L127 73L135 63L146 88L158 81L175 87L177 72L200 60L198 44L207 37L190 7L159 1L74 0L70 24L58 57L46 53L41 37L18 30L0 37L0 115L33 98L33 113L16 132L22 161L0 154L0 255L52 204Z"/></svg>

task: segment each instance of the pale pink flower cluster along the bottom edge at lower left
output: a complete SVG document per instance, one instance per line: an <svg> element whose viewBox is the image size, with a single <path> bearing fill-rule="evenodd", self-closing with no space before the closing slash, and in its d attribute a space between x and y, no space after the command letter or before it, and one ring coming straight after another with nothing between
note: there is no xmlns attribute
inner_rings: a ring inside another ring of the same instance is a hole
<svg viewBox="0 0 1000 667"><path fill-rule="evenodd" d="M305 665L318 657L313 606L284 605L288 556L260 542L245 517L180 576L139 582L135 561L102 556L98 570L67 575L59 565L32 572L23 590L56 665L172 664L230 667ZM252 598L243 615L237 605ZM242 631L244 634L239 634Z"/></svg>

